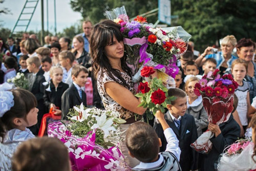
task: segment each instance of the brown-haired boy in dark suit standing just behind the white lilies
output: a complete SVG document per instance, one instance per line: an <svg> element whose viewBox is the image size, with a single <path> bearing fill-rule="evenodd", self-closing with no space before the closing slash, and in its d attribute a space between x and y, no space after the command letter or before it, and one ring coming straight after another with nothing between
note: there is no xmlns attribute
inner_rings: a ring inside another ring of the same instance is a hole
<svg viewBox="0 0 256 171"><path fill-rule="evenodd" d="M62 119L67 119L67 114L73 106L80 105L81 103L85 106L87 105L84 86L87 81L88 73L88 70L81 65L73 67L71 72L73 83L61 97Z"/></svg>

